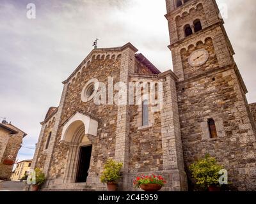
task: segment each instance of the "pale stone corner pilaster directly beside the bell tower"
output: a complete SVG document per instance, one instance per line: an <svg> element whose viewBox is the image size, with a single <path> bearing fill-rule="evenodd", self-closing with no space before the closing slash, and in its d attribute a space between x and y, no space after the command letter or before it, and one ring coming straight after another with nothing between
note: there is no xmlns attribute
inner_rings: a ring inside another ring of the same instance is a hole
<svg viewBox="0 0 256 204"><path fill-rule="evenodd" d="M184 171L176 80L171 75L167 75L163 78L163 82L163 109L161 110L163 170L172 172L170 174L172 190L184 191L188 187Z"/></svg>

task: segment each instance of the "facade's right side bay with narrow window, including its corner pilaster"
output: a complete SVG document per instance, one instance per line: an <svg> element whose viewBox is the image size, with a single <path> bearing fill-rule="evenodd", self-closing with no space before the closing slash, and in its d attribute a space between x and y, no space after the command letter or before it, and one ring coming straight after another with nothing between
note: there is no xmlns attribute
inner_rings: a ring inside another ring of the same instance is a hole
<svg viewBox="0 0 256 204"><path fill-rule="evenodd" d="M142 105L130 107L130 186L128 189L133 190L132 180L137 176L155 173L163 175L166 179L164 191L185 191L187 189L186 173L184 172L175 87L177 78L172 71L169 71L157 76L132 75L130 80L141 85L150 82L161 83L163 87L158 84L155 89L155 97L157 96L160 103L148 105L148 125L142 125ZM142 97L147 93L147 89L146 85L137 95L141 94ZM161 95L162 99L159 98Z"/></svg>

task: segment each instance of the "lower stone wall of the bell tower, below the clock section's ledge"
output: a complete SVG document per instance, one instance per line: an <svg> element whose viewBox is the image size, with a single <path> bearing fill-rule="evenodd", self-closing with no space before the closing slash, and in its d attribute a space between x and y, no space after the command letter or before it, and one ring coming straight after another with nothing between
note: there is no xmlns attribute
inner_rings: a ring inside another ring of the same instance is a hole
<svg viewBox="0 0 256 204"><path fill-rule="evenodd" d="M228 170L234 188L255 190L255 135L234 67L179 82L177 88L187 173L189 164L209 153ZM216 120L216 139L207 135L209 118Z"/></svg>

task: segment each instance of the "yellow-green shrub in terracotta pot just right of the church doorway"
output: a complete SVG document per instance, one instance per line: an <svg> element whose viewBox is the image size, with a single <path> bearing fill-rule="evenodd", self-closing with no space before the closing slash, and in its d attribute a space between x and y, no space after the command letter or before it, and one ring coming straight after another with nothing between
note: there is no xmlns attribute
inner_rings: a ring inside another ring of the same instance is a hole
<svg viewBox="0 0 256 204"><path fill-rule="evenodd" d="M102 172L100 181L104 184L107 184L108 191L117 191L117 181L120 179L120 171L122 166L122 163L118 163L113 159L108 159L104 165L104 171Z"/></svg>

